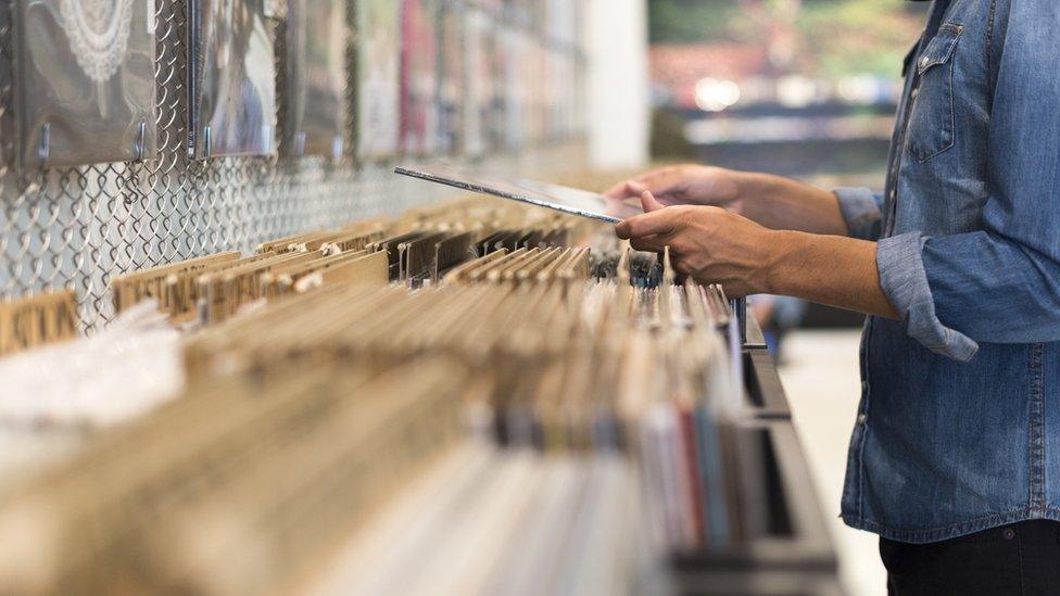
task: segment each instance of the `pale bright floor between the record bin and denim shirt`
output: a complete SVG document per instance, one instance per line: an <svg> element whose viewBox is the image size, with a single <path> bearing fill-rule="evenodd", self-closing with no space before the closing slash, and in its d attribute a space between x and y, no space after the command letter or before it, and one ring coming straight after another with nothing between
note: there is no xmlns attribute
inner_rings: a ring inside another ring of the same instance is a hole
<svg viewBox="0 0 1060 596"><path fill-rule="evenodd" d="M798 331L787 338L781 379L806 449L850 596L886 594L876 536L840 520L847 442L858 407L860 332Z"/></svg>

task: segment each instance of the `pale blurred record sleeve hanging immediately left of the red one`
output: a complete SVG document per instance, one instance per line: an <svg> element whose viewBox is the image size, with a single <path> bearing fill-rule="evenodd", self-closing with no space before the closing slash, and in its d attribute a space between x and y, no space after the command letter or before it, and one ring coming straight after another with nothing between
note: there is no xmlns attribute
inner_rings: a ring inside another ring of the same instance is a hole
<svg viewBox="0 0 1060 596"><path fill-rule="evenodd" d="M401 136L401 14L399 0L357 3L357 138L365 160L398 153Z"/></svg>

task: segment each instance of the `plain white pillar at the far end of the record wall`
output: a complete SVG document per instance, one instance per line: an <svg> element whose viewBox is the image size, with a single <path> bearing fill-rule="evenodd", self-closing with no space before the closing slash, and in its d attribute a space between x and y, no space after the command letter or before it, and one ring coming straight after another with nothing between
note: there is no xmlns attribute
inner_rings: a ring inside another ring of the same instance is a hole
<svg viewBox="0 0 1060 596"><path fill-rule="evenodd" d="M589 158L597 169L648 161L647 0L588 0Z"/></svg>

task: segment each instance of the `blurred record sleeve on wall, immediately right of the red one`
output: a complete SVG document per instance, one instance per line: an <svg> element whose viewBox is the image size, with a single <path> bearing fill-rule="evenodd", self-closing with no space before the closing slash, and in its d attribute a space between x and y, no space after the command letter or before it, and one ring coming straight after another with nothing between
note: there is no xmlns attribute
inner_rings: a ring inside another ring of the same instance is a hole
<svg viewBox="0 0 1060 596"><path fill-rule="evenodd" d="M463 3L445 0L439 23L438 150L453 154L462 150L467 86Z"/></svg>

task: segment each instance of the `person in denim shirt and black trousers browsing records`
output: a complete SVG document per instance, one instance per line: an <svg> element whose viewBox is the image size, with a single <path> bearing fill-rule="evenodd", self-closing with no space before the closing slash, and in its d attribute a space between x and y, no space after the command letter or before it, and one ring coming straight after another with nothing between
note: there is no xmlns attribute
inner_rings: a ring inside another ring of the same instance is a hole
<svg viewBox="0 0 1060 596"><path fill-rule="evenodd" d="M1055 0L936 0L882 194L692 165L608 193L730 295L870 315L842 517L892 594L1060 591L1057 31Z"/></svg>

